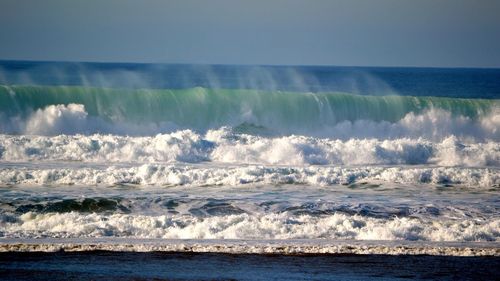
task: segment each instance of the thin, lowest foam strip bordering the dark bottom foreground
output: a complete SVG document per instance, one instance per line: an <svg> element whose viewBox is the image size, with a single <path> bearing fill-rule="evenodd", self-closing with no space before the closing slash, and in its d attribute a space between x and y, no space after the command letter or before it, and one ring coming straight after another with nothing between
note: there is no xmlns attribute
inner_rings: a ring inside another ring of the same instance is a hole
<svg viewBox="0 0 500 281"><path fill-rule="evenodd" d="M138 238L0 238L0 252L166 252L257 255L429 255L500 257L498 242L236 240Z"/></svg>

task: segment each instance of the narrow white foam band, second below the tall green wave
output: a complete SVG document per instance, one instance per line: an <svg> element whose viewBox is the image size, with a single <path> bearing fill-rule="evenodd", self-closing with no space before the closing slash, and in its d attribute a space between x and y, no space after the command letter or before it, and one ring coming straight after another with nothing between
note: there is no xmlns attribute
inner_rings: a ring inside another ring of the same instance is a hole
<svg viewBox="0 0 500 281"><path fill-rule="evenodd" d="M64 164L59 164L64 166ZM331 186L353 183L446 184L470 189L500 186L496 168L453 167L276 167L179 166L144 164L134 167L6 167L0 185L34 186L237 186L246 184L305 184Z"/></svg>

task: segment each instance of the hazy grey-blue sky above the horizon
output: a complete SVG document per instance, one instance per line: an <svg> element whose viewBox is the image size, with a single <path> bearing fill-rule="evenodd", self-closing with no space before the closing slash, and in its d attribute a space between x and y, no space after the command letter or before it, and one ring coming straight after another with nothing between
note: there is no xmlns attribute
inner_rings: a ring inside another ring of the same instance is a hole
<svg viewBox="0 0 500 281"><path fill-rule="evenodd" d="M0 59L500 67L498 0L0 0Z"/></svg>

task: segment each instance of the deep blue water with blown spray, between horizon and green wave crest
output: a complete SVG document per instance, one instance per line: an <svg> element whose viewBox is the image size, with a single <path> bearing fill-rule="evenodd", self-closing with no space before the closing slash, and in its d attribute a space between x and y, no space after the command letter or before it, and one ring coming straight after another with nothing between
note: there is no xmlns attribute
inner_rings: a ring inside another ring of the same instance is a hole
<svg viewBox="0 0 500 281"><path fill-rule="evenodd" d="M500 69L0 61L0 84L500 97Z"/></svg>

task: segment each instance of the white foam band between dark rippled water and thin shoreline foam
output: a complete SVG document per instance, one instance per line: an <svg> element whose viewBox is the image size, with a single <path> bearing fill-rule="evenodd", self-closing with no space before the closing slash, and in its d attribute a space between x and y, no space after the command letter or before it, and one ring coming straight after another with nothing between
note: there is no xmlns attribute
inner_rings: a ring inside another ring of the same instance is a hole
<svg viewBox="0 0 500 281"><path fill-rule="evenodd" d="M254 213L211 217L33 213L1 217L3 237L133 237L163 239L351 239L500 241L500 219L372 218Z"/></svg>

